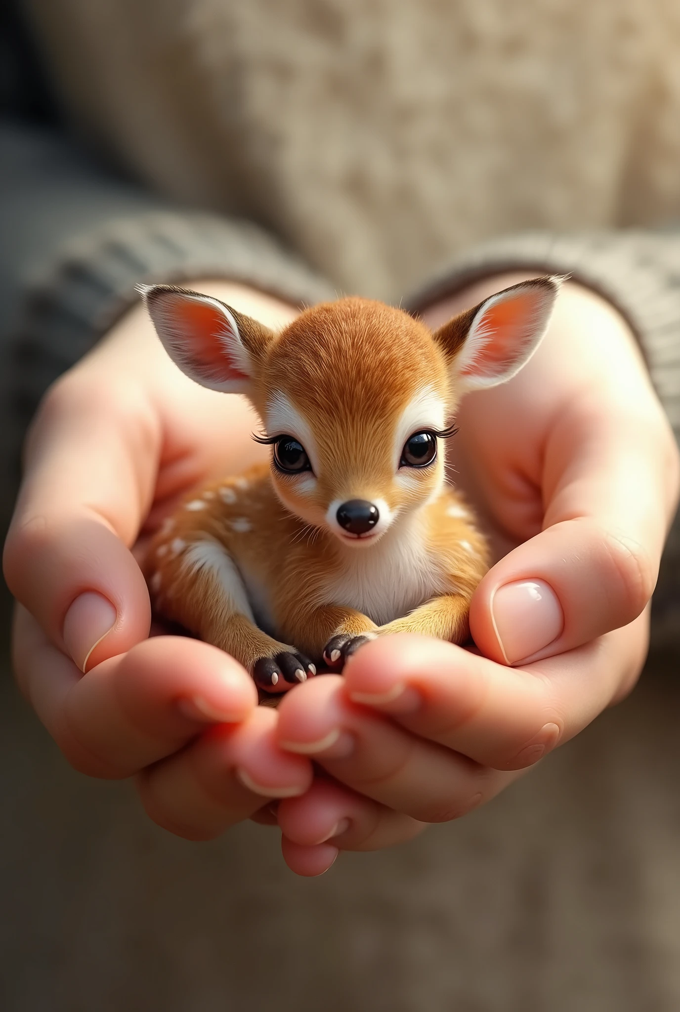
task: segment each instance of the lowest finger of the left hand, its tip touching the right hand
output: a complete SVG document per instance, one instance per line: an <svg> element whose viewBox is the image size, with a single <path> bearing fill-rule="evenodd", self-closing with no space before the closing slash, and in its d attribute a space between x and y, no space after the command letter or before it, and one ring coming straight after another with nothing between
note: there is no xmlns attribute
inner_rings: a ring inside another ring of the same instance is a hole
<svg viewBox="0 0 680 1012"><path fill-rule="evenodd" d="M312 765L278 748L275 726L274 710L255 707L242 724L217 725L144 770L138 788L147 814L178 836L208 840L258 812L263 796L304 793Z"/></svg>

